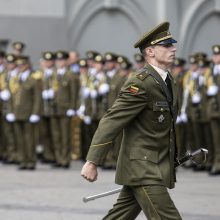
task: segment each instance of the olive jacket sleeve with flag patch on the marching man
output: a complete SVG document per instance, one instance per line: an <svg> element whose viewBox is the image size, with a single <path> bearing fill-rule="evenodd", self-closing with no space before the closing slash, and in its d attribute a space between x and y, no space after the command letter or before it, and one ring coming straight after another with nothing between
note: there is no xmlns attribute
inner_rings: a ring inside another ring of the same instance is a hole
<svg viewBox="0 0 220 220"><path fill-rule="evenodd" d="M142 80L131 77L119 93L114 105L101 119L93 137L87 160L102 164L113 140L121 130L147 105L147 94Z"/></svg>

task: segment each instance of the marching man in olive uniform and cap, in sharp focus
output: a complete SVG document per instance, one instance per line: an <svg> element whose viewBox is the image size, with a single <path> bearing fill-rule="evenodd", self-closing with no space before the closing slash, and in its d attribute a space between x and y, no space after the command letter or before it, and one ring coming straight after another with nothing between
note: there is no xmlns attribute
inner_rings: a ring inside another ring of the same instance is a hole
<svg viewBox="0 0 220 220"><path fill-rule="evenodd" d="M116 183L123 187L103 219L135 219L141 210L148 219L182 219L167 191L176 181L177 84L169 72L173 43L168 22L138 40L134 47L145 57L145 68L126 81L93 137L81 170L90 182L123 130L116 168Z"/></svg>

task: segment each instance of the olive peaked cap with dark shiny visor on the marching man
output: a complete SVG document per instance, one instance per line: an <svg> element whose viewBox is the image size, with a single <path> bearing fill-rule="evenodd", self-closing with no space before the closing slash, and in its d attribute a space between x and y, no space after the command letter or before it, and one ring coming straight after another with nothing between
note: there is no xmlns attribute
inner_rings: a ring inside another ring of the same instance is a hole
<svg viewBox="0 0 220 220"><path fill-rule="evenodd" d="M170 23L162 22L157 25L155 28L145 33L135 44L135 48L139 48L143 50L146 47L153 46L156 44L166 45L177 43L176 40L173 39L169 31Z"/></svg>

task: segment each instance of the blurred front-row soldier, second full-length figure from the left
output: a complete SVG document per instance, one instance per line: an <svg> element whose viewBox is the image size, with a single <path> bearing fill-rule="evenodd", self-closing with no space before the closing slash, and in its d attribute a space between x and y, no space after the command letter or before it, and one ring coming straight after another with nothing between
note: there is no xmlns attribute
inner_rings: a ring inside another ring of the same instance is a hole
<svg viewBox="0 0 220 220"><path fill-rule="evenodd" d="M69 54L56 52L53 78L53 117L51 118L55 166L69 168L71 161L71 119L77 110L79 78L68 68Z"/></svg>

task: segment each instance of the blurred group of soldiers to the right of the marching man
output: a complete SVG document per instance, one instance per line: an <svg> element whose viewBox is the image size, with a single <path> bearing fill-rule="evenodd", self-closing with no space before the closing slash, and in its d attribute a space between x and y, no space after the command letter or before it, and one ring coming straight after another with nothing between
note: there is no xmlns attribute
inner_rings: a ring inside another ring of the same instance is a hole
<svg viewBox="0 0 220 220"><path fill-rule="evenodd" d="M172 73L179 83L180 112L177 117L179 156L187 150L207 148L206 163L189 163L195 171L220 174L220 45L212 46L212 58L199 52L185 60L176 59Z"/></svg>

